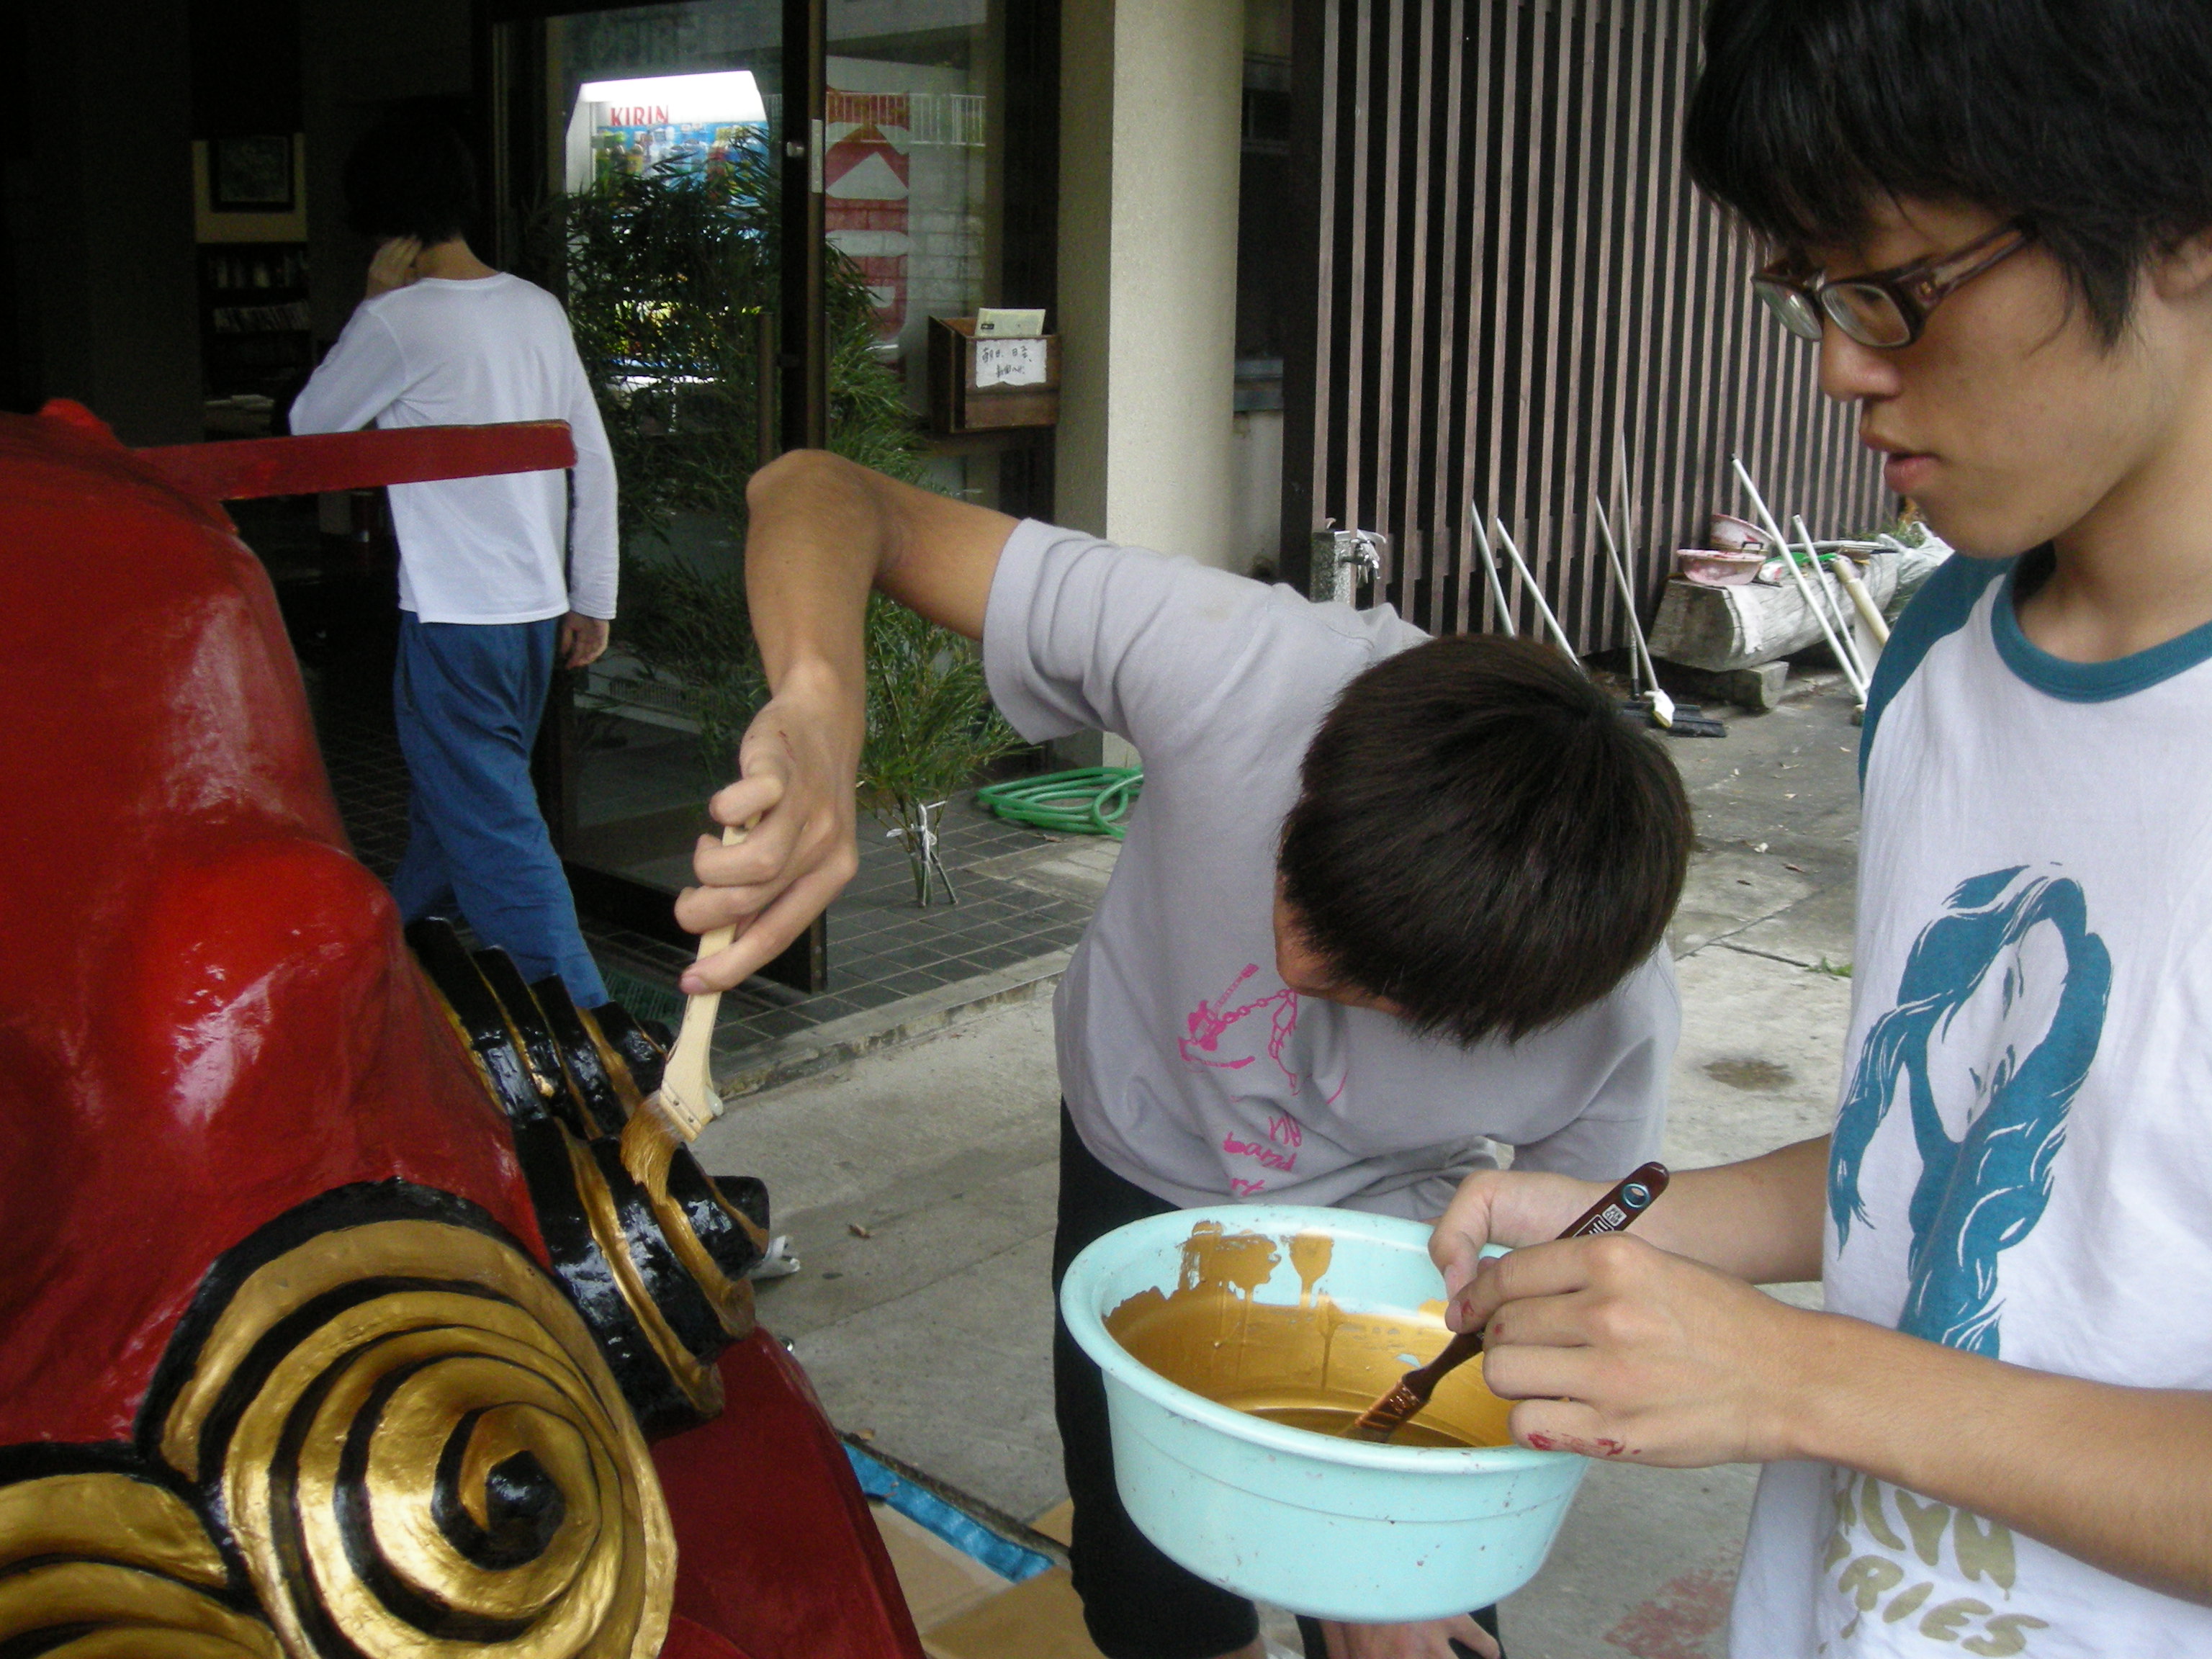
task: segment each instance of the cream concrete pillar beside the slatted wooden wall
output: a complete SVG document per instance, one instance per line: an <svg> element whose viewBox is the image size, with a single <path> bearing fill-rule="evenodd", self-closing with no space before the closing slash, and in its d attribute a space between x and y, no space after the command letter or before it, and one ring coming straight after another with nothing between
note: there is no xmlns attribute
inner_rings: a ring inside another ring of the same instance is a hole
<svg viewBox="0 0 2212 1659"><path fill-rule="evenodd" d="M1057 515L1237 566L1243 0L1066 0Z"/></svg>

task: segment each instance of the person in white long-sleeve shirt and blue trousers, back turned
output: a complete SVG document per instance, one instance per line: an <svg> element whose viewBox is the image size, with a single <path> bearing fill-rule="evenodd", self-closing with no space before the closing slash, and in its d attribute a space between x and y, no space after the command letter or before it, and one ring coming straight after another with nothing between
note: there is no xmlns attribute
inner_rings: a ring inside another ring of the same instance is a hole
<svg viewBox="0 0 2212 1659"><path fill-rule="evenodd" d="M524 978L606 1002L531 785L555 659L584 668L615 615L615 458L568 319L471 252L462 142L407 124L345 168L376 237L367 296L292 403L292 431L566 420L575 471L394 484L400 653L394 712L414 783L392 876L405 920L458 914Z"/></svg>

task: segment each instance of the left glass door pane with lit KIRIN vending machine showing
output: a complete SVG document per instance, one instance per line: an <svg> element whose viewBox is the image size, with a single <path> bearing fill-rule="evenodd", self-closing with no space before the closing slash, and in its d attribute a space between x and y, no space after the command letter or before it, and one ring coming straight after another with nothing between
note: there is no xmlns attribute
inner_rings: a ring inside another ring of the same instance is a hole
<svg viewBox="0 0 2212 1659"><path fill-rule="evenodd" d="M787 49L810 11L684 0L491 29L502 252L568 305L622 487L622 617L562 675L540 787L580 909L672 945L703 801L757 703L745 480L821 442L818 301L810 261L783 259L821 217L816 77L805 40ZM812 991L823 958L816 929L770 975Z"/></svg>

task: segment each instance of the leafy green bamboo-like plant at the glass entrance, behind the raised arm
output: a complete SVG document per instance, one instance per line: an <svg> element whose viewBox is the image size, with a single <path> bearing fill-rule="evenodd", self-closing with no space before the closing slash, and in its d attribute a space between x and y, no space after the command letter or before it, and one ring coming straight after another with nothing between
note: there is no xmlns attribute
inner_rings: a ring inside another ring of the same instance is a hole
<svg viewBox="0 0 2212 1659"><path fill-rule="evenodd" d="M699 723L701 772L728 779L737 741L768 701L739 568L641 555L679 513L745 529L745 482L763 460L763 330L776 303L776 166L765 142L728 168L611 175L553 201L540 221L568 281L577 352L599 398L622 478L624 608L617 639L672 686ZM898 380L876 358L876 316L858 270L825 259L830 447L925 482L922 445ZM1015 748L991 708L975 648L911 611L867 611L867 745L860 803L905 841L927 905L933 812ZM945 880L951 896L951 883Z"/></svg>

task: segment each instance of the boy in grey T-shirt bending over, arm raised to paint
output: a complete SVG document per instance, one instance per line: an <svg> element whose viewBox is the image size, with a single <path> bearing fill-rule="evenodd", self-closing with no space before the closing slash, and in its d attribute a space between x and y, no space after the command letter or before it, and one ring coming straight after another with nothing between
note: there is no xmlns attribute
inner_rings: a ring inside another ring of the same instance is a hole
<svg viewBox="0 0 2212 1659"><path fill-rule="evenodd" d="M1190 560L792 453L754 476L745 577L774 699L714 796L686 927L730 987L852 876L872 586L982 641L1031 741L1130 739L1144 796L1060 984L1057 1276L1115 1225L1265 1199L1433 1217L1498 1161L1615 1179L1659 1146L1679 1029L1661 949L1690 818L1657 743L1573 664L1427 639ZM1075 1586L1108 1659L1256 1655L1252 1606L1115 1495L1097 1367L1055 1334ZM1493 1624L1484 1610L1484 1621ZM1316 1632L1491 1655L1473 1617ZM1451 1644L1460 1644L1453 1648Z"/></svg>

